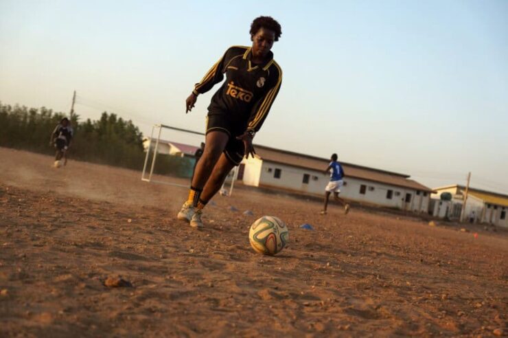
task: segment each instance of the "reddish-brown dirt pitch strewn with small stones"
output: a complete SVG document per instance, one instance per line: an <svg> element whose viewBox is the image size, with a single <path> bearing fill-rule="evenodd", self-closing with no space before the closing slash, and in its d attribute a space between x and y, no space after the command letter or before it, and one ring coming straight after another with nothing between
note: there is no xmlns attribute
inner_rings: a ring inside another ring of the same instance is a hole
<svg viewBox="0 0 508 338"><path fill-rule="evenodd" d="M336 206L321 216L321 203L241 188L216 196L197 231L175 218L185 188L0 158L0 337L508 334L507 232ZM264 214L290 229L275 257L247 238Z"/></svg>

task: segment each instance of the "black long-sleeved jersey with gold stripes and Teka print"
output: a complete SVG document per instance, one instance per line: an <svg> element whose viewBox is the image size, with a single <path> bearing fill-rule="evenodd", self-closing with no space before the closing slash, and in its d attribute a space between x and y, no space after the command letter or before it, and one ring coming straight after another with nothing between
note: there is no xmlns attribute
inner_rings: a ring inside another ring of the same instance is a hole
<svg viewBox="0 0 508 338"><path fill-rule="evenodd" d="M226 81L211 99L209 112L227 114L247 130L259 131L281 87L282 71L272 52L264 65L254 65L251 58L251 47L230 47L193 92L206 93L226 74Z"/></svg>

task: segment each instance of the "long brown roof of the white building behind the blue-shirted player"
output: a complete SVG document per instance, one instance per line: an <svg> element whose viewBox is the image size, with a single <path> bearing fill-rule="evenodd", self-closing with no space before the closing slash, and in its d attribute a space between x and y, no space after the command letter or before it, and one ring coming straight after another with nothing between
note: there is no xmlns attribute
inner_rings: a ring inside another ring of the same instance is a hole
<svg viewBox="0 0 508 338"><path fill-rule="evenodd" d="M280 150L266 146L255 145L255 150L256 155L265 161L286 164L299 168L323 171L330 163L330 159L293 153L287 150ZM343 161L340 161L340 164L343 166L347 177L385 183L388 185L396 185L402 188L432 192L432 190L425 185L422 185L417 181L413 181L412 179L408 179L409 175L407 174L400 174L397 172L358 166L357 164L349 164Z"/></svg>

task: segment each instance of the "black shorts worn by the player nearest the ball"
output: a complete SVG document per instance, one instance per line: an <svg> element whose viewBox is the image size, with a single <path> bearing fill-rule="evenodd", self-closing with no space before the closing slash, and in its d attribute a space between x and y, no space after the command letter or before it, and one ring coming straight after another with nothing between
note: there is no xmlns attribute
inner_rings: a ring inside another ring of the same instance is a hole
<svg viewBox="0 0 508 338"><path fill-rule="evenodd" d="M211 131L222 131L229 135L229 140L224 148L224 155L235 166L238 166L245 155L244 142L236 139L242 135L247 128L247 122L235 121L225 114L209 113L207 117L207 133Z"/></svg>

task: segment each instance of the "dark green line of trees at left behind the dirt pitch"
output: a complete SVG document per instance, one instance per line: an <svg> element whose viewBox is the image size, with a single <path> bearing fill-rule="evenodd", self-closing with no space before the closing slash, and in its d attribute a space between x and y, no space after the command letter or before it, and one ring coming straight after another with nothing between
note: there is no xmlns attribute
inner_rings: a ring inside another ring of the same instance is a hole
<svg viewBox="0 0 508 338"><path fill-rule="evenodd" d="M0 146L53 155L55 148L50 146L49 138L63 117L65 113L45 107L36 109L0 102ZM131 120L104 111L99 120L84 122L80 122L79 115L73 115L71 126L74 138L69 159L135 170L143 168L146 155L143 134ZM155 172L188 177L192 166L192 159L159 154Z"/></svg>

